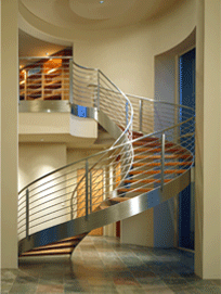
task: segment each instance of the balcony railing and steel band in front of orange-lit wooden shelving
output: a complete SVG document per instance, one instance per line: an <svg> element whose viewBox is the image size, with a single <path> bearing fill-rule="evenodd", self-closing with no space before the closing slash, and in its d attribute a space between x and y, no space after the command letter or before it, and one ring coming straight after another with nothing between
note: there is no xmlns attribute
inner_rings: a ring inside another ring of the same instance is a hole
<svg viewBox="0 0 221 294"><path fill-rule="evenodd" d="M20 57L20 112L69 112L72 50Z"/></svg>

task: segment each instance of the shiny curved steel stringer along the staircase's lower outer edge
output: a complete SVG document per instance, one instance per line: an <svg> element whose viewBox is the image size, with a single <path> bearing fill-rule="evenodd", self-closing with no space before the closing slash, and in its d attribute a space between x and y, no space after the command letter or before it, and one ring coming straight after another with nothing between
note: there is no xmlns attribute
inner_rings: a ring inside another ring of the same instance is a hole
<svg viewBox="0 0 221 294"><path fill-rule="evenodd" d="M185 189L190 182L191 168L183 175L177 177L173 181L166 183L162 191L160 188L156 188L148 193L135 196L105 209L94 212L88 215L88 217L83 216L76 218L29 235L29 238L20 242L18 253L22 255L22 253L35 247L44 246L69 237L79 234L87 235L93 229L135 216L176 196ZM105 201L103 203L105 203Z"/></svg>

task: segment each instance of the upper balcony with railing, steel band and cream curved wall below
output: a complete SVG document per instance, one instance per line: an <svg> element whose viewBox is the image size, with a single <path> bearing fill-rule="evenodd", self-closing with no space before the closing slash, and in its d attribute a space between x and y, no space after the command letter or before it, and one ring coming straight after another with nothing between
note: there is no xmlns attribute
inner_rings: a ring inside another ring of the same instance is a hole
<svg viewBox="0 0 221 294"><path fill-rule="evenodd" d="M79 145L82 140L87 139L88 144L98 139L98 123L82 118L87 116L86 107L79 105L75 116L69 115L73 84L70 49L51 56L20 57L20 142L32 141L34 135L50 142L60 138L68 145L76 145L76 140ZM83 142L79 146L84 146Z"/></svg>

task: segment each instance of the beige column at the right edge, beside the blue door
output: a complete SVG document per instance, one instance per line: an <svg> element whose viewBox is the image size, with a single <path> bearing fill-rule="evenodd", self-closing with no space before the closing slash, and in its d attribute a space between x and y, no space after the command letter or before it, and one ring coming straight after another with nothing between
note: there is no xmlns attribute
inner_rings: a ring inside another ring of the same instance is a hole
<svg viewBox="0 0 221 294"><path fill-rule="evenodd" d="M197 0L195 272L221 279L220 0Z"/></svg>

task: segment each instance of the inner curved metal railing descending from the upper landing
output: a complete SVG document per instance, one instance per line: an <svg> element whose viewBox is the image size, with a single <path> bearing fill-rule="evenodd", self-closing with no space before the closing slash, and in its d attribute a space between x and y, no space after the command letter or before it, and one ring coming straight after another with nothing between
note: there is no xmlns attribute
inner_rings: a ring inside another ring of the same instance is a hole
<svg viewBox="0 0 221 294"><path fill-rule="evenodd" d="M119 88L116 87L100 69L83 67L76 63L73 64L74 92L72 107L74 107L75 110L80 105L87 108L93 108L98 111L99 115L105 114L105 118L108 118L107 123L105 123L104 119L100 120L98 117L96 119L104 127L106 126L108 128L108 131L110 131L110 133L116 139L113 146L119 144L120 142L126 143L130 141L133 108L127 95L125 95L125 93L120 91ZM112 124L113 129L109 129L109 119L115 123ZM127 174L130 170L133 161L133 156L129 156L132 153L131 144L126 144L125 146L127 146L126 155L118 156L119 164L121 166L121 181L125 177L127 177ZM86 202L88 203L88 172L92 175L93 169L100 164L100 161L92 165L90 168L88 166L88 162L86 163L86 172L73 191L70 197L70 207L74 206L74 199L76 197L79 186L82 183L83 180L86 180ZM90 194L92 193L92 186L90 184ZM88 216L88 204L86 206L86 215ZM72 219L74 218L73 209L70 209L70 217Z"/></svg>

